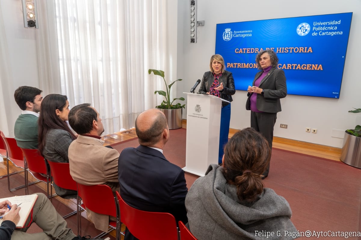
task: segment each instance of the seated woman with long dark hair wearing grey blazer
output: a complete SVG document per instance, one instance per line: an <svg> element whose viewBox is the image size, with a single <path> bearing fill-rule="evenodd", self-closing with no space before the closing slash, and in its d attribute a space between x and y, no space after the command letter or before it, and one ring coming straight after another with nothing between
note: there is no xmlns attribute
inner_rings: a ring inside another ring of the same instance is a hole
<svg viewBox="0 0 361 240"><path fill-rule="evenodd" d="M69 101L65 95L49 94L40 107L39 151L45 159L58 163L69 163L68 148L77 137L66 123ZM54 184L57 195L62 198L76 198L77 191L64 189Z"/></svg>

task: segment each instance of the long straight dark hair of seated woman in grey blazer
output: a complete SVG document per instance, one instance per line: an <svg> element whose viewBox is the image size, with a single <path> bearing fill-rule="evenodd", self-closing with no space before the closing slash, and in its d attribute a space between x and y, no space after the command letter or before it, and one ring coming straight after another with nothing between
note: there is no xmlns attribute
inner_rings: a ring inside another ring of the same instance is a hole
<svg viewBox="0 0 361 240"><path fill-rule="evenodd" d="M43 154L46 135L51 129L68 131L73 140L77 138L70 130L68 124L56 115L56 109L59 109L60 111L64 110L66 100L68 100L68 97L60 94L49 94L43 98L38 119L38 149L40 154Z"/></svg>

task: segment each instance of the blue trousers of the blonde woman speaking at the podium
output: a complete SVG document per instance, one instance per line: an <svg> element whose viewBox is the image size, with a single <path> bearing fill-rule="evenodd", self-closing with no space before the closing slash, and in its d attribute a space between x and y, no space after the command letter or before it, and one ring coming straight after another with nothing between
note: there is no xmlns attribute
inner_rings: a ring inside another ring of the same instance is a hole
<svg viewBox="0 0 361 240"><path fill-rule="evenodd" d="M219 128L219 151L218 163L222 162L223 148L228 142L229 121L231 120L231 104L224 106L221 110L221 127Z"/></svg>

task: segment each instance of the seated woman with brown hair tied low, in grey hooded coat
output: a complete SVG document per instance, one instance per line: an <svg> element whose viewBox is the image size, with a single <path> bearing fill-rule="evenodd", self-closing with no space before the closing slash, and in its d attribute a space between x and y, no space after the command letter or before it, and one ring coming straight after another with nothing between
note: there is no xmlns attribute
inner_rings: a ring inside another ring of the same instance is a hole
<svg viewBox="0 0 361 240"><path fill-rule="evenodd" d="M261 133L253 128L235 133L225 146L223 167L211 164L186 196L189 227L197 239L295 238L290 205L262 183L270 157Z"/></svg>

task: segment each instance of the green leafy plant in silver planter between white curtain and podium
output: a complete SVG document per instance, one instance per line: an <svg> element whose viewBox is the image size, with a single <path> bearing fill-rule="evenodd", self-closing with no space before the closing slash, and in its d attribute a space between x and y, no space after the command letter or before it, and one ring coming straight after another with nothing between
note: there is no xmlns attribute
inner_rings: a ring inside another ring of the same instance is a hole
<svg viewBox="0 0 361 240"><path fill-rule="evenodd" d="M165 100L162 101L162 103L157 106L157 108L161 108L161 109L178 109L178 108L184 108L184 106L186 104L181 105L180 103L177 103L175 105L173 105L173 102L175 100L181 100L184 101L184 98L174 98L173 101L170 101L170 88L173 86L173 84L177 81L182 81L182 79L177 79L174 82L170 83L169 85L167 85L167 82L164 79L164 71L162 70L156 70L156 69L148 69L148 74L151 74L153 72L154 75L157 76L161 76L164 80L167 92L159 90L159 91L155 91L154 94L159 94L164 96Z"/></svg>

